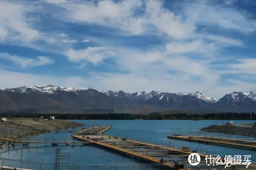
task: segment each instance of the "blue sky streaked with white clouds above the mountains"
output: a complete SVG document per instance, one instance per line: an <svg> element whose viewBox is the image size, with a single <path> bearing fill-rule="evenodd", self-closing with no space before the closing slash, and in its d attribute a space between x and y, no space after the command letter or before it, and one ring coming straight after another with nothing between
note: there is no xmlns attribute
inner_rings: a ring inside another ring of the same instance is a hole
<svg viewBox="0 0 256 170"><path fill-rule="evenodd" d="M1 0L0 89L256 91L254 0Z"/></svg>

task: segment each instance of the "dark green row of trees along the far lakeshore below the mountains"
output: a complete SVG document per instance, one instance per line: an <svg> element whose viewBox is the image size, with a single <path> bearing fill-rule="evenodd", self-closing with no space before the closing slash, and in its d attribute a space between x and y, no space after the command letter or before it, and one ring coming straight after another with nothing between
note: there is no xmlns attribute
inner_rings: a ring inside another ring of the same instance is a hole
<svg viewBox="0 0 256 170"><path fill-rule="evenodd" d="M186 114L186 113L151 113L151 114L128 114L128 113L105 113L105 114L39 114L39 113L26 113L19 114L13 117L50 117L55 116L56 119L105 119L105 120L177 120L177 119L190 119L190 120L211 120L211 119L227 119L227 120L255 120L255 113L206 113L206 114ZM8 115L6 115L8 116ZM10 115L9 115L10 116Z"/></svg>

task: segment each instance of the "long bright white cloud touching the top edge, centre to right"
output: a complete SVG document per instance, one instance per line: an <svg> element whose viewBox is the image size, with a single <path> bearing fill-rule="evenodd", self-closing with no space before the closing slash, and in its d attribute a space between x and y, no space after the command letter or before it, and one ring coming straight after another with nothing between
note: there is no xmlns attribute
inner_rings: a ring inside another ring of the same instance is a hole
<svg viewBox="0 0 256 170"><path fill-rule="evenodd" d="M117 3L112 0L97 3L68 1L58 5L68 10L67 16L62 16L63 20L117 27L131 35L145 33L153 28L152 25L175 39L188 38L194 31L193 24L183 22L173 12L164 9L160 0L146 1L145 7L141 0L124 0ZM145 13L138 16L136 10L143 8L146 8Z"/></svg>

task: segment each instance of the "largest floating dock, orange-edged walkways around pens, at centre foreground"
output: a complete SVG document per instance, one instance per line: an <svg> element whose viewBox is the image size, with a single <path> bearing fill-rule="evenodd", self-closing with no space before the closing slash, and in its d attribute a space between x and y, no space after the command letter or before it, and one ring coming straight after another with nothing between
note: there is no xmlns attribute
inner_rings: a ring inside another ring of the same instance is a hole
<svg viewBox="0 0 256 170"><path fill-rule="evenodd" d="M141 158L159 165L161 164L172 170L192 170L191 168L186 167L186 163L188 163L188 156L192 152L104 135L72 135L72 137L80 141L92 142L99 147L116 150L131 157ZM160 158L164 158L166 162L160 162ZM178 160L179 163L174 163L173 160Z"/></svg>

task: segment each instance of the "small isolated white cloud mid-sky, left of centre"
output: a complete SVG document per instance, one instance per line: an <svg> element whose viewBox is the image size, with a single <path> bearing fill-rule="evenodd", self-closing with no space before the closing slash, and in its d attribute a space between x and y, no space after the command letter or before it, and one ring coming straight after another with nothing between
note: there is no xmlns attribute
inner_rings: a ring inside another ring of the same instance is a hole
<svg viewBox="0 0 256 170"><path fill-rule="evenodd" d="M66 56L73 62L89 61L97 64L104 59L114 56L114 52L105 47L88 47L81 50L69 49Z"/></svg>

